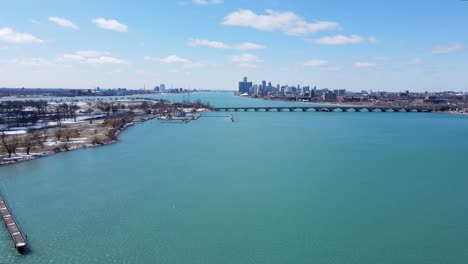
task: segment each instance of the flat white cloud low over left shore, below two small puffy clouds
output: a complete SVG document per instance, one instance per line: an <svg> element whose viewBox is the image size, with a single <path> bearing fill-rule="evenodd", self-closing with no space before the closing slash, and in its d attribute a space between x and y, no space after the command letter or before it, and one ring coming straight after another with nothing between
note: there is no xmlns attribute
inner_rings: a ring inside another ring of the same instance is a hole
<svg viewBox="0 0 468 264"><path fill-rule="evenodd" d="M108 52L95 50L80 50L75 53L66 53L59 61L74 61L83 64L128 64L127 61L110 57Z"/></svg>

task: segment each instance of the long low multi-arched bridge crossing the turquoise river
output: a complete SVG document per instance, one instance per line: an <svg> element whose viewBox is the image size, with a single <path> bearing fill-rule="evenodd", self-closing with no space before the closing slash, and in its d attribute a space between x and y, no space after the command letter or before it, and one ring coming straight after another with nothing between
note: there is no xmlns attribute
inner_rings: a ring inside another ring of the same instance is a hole
<svg viewBox="0 0 468 264"><path fill-rule="evenodd" d="M253 107L214 107L217 112L432 112L423 107L386 107L386 106L253 106Z"/></svg>

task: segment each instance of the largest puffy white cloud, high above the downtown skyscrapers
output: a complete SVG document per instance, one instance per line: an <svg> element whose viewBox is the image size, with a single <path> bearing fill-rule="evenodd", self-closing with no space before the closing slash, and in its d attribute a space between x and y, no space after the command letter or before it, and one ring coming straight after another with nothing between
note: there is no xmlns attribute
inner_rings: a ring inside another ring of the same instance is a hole
<svg viewBox="0 0 468 264"><path fill-rule="evenodd" d="M330 21L307 22L293 12L266 10L266 14L256 14L241 9L228 14L224 25L250 27L261 31L280 31L288 35L307 35L324 30L339 29L340 25Z"/></svg>

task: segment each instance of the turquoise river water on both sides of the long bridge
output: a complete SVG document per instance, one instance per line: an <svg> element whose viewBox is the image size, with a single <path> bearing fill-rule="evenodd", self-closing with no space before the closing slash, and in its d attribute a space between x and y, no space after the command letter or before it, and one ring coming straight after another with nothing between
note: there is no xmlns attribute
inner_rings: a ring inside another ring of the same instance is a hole
<svg viewBox="0 0 468 264"><path fill-rule="evenodd" d="M468 118L207 115L0 167L31 247L0 228L0 263L468 262Z"/></svg>

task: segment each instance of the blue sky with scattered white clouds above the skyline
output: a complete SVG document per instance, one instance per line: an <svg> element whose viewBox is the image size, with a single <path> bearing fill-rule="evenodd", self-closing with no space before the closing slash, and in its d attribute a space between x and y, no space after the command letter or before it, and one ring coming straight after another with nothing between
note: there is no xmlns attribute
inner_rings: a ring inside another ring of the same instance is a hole
<svg viewBox="0 0 468 264"><path fill-rule="evenodd" d="M467 25L461 0L0 0L0 87L468 92Z"/></svg>

